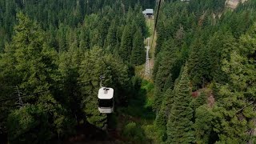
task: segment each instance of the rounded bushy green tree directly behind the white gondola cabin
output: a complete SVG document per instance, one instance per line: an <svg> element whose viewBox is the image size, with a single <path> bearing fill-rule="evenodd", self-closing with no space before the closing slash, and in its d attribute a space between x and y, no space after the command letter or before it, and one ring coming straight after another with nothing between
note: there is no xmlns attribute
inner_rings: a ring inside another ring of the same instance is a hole
<svg viewBox="0 0 256 144"><path fill-rule="evenodd" d="M86 119L91 124L102 127L106 122L106 115L98 112L98 79L101 75L106 76L102 85L116 88L117 101L125 100L127 95L121 95L118 89L121 91L125 86L129 86L128 68L113 55L104 54L102 49L94 47L86 52L79 74L79 81L86 82L85 86L82 86L82 109Z"/></svg>

